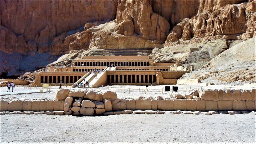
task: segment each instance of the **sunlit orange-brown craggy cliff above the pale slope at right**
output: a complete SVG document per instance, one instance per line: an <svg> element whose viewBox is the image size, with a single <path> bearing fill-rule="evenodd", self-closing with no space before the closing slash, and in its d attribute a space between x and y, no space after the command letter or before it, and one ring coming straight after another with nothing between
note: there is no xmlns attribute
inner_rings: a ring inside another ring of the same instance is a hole
<svg viewBox="0 0 256 144"><path fill-rule="evenodd" d="M183 19L168 35L165 46L220 39L248 39L255 35L256 1L201 0L198 14Z"/></svg>

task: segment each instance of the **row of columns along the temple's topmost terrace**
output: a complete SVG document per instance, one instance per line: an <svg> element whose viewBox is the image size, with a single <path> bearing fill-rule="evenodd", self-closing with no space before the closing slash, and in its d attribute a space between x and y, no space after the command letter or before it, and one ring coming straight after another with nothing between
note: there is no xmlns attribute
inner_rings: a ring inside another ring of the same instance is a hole
<svg viewBox="0 0 256 144"><path fill-rule="evenodd" d="M135 62L75 62L75 66L149 66L148 61Z"/></svg>

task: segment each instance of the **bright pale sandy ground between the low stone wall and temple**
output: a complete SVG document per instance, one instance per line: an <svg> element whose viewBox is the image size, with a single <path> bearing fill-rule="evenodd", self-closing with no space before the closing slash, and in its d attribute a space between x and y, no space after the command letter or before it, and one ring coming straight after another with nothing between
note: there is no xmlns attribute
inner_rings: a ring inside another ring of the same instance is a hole
<svg viewBox="0 0 256 144"><path fill-rule="evenodd" d="M229 85L210 85L210 86L200 86L200 85L174 85L178 86L178 93L185 94L187 89L191 88L203 88L203 89L252 89L252 86L242 86L242 85L236 85L236 86L229 86ZM172 87L172 86L171 86ZM254 86L255 88L256 86ZM175 93L172 93L172 88L170 91L164 91L165 85L161 86L149 86L146 93L145 93L145 86L105 86L105 87L99 87L99 88L84 88L84 89L90 89L90 90L97 90L100 92L106 92L106 91L115 91L117 93L117 97L119 99L136 99L140 96L144 96L145 98L148 98L152 96L153 98L157 98L157 96L162 96L163 98L170 98ZM163 88L163 93L162 93ZM40 89L42 88L35 88L35 87L15 87L14 92L7 92L6 87L0 87L0 100L9 100L9 99L22 99L22 100L37 100L37 99L49 99L54 100L57 91L59 90L58 87L50 87L51 92L46 92L46 89L44 89L44 93L40 93ZM71 88L68 88L71 90ZM72 88L74 89L80 89L80 88ZM129 93L130 90L130 93Z"/></svg>

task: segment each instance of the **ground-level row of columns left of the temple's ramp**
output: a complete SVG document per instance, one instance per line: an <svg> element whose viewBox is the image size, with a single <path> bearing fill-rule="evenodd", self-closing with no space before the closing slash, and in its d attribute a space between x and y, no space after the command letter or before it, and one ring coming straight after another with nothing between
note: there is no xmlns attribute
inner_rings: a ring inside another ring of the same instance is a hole
<svg viewBox="0 0 256 144"><path fill-rule="evenodd" d="M75 83L82 76L41 76L41 83Z"/></svg>

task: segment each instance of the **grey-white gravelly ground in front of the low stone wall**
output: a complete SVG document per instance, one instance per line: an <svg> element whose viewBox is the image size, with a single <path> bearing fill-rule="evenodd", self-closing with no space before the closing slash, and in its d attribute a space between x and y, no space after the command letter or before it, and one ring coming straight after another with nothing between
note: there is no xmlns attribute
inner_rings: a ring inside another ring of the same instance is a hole
<svg viewBox="0 0 256 144"><path fill-rule="evenodd" d="M255 115L1 115L1 142L255 142Z"/></svg>

